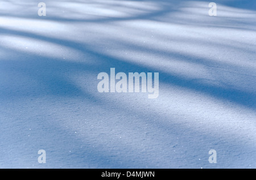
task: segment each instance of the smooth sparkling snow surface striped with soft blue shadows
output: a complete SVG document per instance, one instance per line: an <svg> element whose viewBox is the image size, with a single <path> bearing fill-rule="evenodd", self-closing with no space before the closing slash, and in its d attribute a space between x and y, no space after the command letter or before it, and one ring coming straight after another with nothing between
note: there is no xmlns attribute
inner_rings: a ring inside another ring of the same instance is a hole
<svg viewBox="0 0 256 180"><path fill-rule="evenodd" d="M256 168L256 1L43 2L0 2L0 168Z"/></svg>

